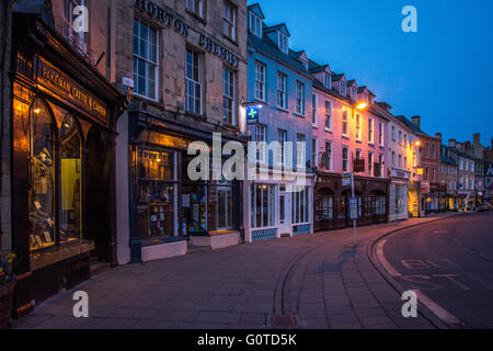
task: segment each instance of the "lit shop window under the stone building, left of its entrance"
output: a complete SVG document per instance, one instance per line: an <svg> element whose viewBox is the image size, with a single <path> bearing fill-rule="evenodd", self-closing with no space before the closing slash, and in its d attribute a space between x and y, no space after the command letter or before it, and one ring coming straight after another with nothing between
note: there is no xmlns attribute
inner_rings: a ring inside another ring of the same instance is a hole
<svg viewBox="0 0 493 351"><path fill-rule="evenodd" d="M173 237L175 230L176 177L175 155L158 149L138 154L139 201L138 235L140 239Z"/></svg>

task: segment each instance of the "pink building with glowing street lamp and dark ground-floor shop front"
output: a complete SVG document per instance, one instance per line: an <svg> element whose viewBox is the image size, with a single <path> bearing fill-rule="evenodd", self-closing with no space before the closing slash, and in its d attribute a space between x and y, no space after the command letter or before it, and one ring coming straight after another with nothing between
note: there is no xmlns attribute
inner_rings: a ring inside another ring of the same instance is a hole
<svg viewBox="0 0 493 351"><path fill-rule="evenodd" d="M347 200L351 188L342 174L354 172L359 200L359 224L388 219L388 122L375 103L375 94L329 65L310 61L313 81L312 163L317 168L316 230L351 225ZM355 162L359 159L359 162ZM356 165L359 163L359 165ZM360 169L355 169L358 166Z"/></svg>

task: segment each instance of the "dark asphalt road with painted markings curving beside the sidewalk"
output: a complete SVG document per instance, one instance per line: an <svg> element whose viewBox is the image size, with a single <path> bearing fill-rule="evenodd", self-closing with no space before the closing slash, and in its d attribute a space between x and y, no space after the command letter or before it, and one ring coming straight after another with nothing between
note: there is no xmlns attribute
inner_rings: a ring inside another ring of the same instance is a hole
<svg viewBox="0 0 493 351"><path fill-rule="evenodd" d="M402 288L422 292L455 327L493 328L492 212L408 228L382 245L386 269Z"/></svg>

